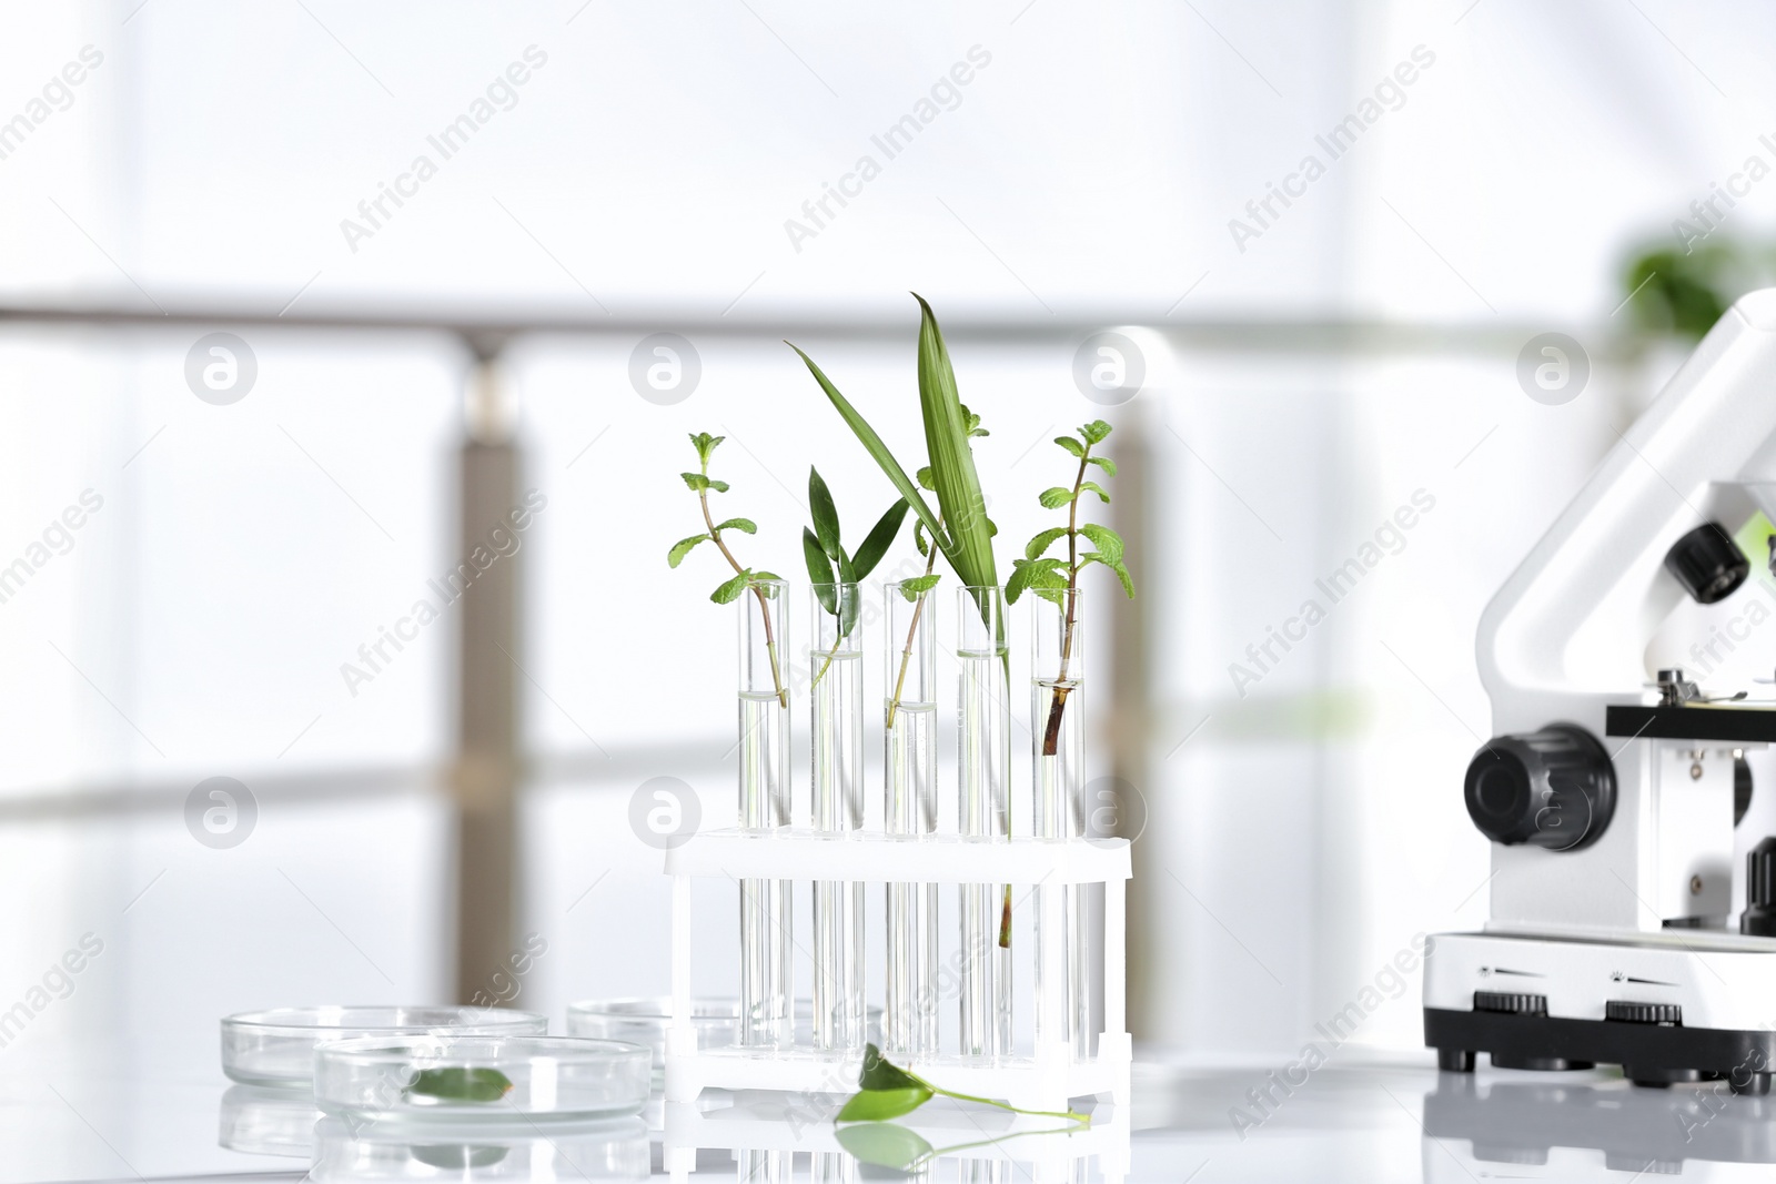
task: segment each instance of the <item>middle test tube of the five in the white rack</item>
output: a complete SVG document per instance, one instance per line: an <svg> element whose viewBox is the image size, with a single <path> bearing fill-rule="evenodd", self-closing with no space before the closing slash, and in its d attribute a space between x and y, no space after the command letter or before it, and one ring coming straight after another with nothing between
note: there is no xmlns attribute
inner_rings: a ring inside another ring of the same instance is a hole
<svg viewBox="0 0 1776 1184"><path fill-rule="evenodd" d="M938 829L938 598L908 584L886 584L883 596L884 822L890 836L916 841ZM883 1046L908 1056L938 1051L936 884L888 886Z"/></svg>

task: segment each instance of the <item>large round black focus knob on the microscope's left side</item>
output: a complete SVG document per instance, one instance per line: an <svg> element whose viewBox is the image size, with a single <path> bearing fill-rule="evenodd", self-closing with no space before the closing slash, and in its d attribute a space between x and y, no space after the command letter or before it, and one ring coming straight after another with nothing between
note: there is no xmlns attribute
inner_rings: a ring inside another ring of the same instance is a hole
<svg viewBox="0 0 1776 1184"><path fill-rule="evenodd" d="M1494 737L1474 753L1463 783L1479 833L1506 847L1574 850L1597 841L1616 811L1616 767L1577 724Z"/></svg>

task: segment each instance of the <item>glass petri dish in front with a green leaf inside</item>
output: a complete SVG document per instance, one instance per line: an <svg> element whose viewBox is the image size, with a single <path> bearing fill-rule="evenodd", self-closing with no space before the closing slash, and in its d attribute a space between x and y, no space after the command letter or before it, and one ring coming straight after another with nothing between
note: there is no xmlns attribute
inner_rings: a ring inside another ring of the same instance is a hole
<svg viewBox="0 0 1776 1184"><path fill-rule="evenodd" d="M638 1115L648 1049L581 1037L361 1037L314 1049L314 1102L389 1127L519 1127Z"/></svg>

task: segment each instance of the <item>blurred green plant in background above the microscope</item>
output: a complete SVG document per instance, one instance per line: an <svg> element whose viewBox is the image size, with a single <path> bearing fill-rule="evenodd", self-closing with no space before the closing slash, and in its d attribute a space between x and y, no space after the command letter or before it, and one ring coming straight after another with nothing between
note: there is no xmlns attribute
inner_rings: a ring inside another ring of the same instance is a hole
<svg viewBox="0 0 1776 1184"><path fill-rule="evenodd" d="M1776 284L1776 250L1740 240L1650 247L1621 273L1634 327L1685 341L1700 341L1733 300L1769 284Z"/></svg>

